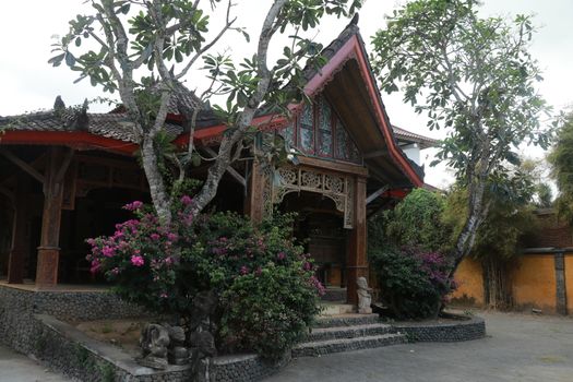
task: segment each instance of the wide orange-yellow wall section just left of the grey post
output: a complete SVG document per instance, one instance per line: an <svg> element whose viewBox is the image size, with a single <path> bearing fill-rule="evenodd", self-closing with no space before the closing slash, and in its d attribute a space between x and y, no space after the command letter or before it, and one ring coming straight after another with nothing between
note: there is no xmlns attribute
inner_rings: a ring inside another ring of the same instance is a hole
<svg viewBox="0 0 573 382"><path fill-rule="evenodd" d="M513 303L516 308L556 311L556 271L553 254L520 256L512 272Z"/></svg>

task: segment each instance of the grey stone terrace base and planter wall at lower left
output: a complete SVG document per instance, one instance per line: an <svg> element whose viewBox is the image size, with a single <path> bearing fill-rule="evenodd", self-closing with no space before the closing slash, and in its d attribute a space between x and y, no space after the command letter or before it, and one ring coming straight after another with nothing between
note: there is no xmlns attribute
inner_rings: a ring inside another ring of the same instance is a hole
<svg viewBox="0 0 573 382"><path fill-rule="evenodd" d="M170 366L164 371L142 367L122 349L60 321L122 319L142 312L106 291L34 291L0 285L0 342L81 381L190 380L189 367ZM219 357L211 372L217 382L259 381L288 361L270 363L255 355Z"/></svg>

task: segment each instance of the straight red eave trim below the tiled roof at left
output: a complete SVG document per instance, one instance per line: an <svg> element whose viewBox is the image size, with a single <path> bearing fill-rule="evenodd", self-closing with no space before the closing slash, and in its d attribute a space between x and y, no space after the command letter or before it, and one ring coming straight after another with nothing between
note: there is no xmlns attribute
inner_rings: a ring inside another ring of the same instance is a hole
<svg viewBox="0 0 573 382"><path fill-rule="evenodd" d="M133 154L139 145L92 133L67 131L5 131L0 135L2 144L62 145L77 150L105 150L118 154Z"/></svg>

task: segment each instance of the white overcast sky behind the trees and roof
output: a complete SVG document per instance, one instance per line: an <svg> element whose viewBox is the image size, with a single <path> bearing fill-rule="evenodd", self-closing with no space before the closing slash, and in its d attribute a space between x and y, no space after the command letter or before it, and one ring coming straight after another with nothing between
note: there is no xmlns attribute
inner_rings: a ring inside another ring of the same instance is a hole
<svg viewBox="0 0 573 382"><path fill-rule="evenodd" d="M75 73L64 67L51 68L47 61L52 56L52 35L62 35L68 21L85 9L83 0L27 0L2 1L0 4L0 116L16 115L38 109L48 109L57 95L68 105L80 104L84 98L102 95L88 82L73 84ZM266 0L237 0L235 13L238 23L256 37L264 13L271 3ZM404 1L368 0L360 11L360 31L367 45L370 36L384 27L384 14L391 13ZM546 99L559 110L573 103L573 0L485 0L484 15L513 16L517 13L534 14L539 27L532 52L545 71L545 81L539 89ZM215 24L216 24L215 20ZM220 22L220 20L218 20ZM313 32L315 39L329 44L348 23L348 20L325 19ZM282 44L277 44L277 46ZM368 49L370 47L367 47ZM239 36L229 35L217 50L231 49L237 56L252 56L254 47ZM194 79L190 79L190 81ZM196 82L201 87L202 82ZM194 87L194 86L192 86ZM404 105L399 95L383 95L393 124L429 136L440 138L440 132L426 130L426 119L417 116L411 107ZM93 110L104 111L105 107ZM536 152L536 156L542 153ZM432 160L432 151L422 152ZM444 168L428 168L427 182L444 187L451 177Z"/></svg>

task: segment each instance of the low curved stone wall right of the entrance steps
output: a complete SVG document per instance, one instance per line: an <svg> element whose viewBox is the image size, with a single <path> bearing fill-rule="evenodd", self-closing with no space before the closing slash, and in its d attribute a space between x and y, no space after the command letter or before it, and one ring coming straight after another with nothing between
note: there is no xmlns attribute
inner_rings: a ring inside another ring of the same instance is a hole
<svg viewBox="0 0 573 382"><path fill-rule="evenodd" d="M484 338L486 322L474 317L444 322L395 322L392 326L409 342L449 343Z"/></svg>

